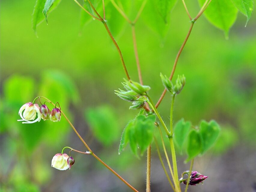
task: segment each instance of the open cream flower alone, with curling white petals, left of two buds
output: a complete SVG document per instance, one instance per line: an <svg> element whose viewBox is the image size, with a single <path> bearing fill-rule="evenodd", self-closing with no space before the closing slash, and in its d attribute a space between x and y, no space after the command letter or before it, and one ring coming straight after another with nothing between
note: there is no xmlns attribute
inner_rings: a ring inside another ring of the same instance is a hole
<svg viewBox="0 0 256 192"><path fill-rule="evenodd" d="M18 121L24 121L22 123L35 123L41 120L39 105L33 104L31 102L28 102L22 105L18 114L21 117L21 120L18 120ZM36 118L36 115L37 115L37 118Z"/></svg>

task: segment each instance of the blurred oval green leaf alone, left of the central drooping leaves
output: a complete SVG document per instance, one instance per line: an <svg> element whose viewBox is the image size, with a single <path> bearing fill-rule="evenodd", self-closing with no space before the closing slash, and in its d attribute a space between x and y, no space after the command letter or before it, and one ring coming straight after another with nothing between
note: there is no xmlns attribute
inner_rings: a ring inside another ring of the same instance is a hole
<svg viewBox="0 0 256 192"><path fill-rule="evenodd" d="M118 123L113 108L100 106L89 108L85 117L93 135L104 145L111 145L118 138Z"/></svg>

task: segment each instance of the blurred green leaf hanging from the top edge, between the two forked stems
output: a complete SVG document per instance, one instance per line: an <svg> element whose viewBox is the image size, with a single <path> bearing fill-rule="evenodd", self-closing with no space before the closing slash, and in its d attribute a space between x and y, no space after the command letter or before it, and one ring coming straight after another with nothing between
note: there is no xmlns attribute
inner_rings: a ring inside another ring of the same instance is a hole
<svg viewBox="0 0 256 192"><path fill-rule="evenodd" d="M151 0L145 5L142 18L156 34L164 37L169 29L170 12L177 0Z"/></svg>

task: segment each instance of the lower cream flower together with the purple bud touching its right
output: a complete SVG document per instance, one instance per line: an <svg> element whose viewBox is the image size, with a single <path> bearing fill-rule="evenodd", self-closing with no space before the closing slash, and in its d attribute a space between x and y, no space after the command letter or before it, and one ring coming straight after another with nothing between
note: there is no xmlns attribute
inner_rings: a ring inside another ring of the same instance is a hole
<svg viewBox="0 0 256 192"><path fill-rule="evenodd" d="M72 167L72 165L75 163L75 159L73 157L69 157L66 153L57 153L53 156L52 159L52 167L58 170L67 170Z"/></svg>

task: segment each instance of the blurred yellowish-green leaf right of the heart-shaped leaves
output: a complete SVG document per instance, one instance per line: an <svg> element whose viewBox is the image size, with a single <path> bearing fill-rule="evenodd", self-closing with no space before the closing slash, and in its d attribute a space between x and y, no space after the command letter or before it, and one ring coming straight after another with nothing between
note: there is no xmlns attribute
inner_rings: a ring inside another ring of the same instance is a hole
<svg viewBox="0 0 256 192"><path fill-rule="evenodd" d="M223 154L238 141L238 134L234 128L222 128L220 136L213 146L213 151L218 154Z"/></svg>

